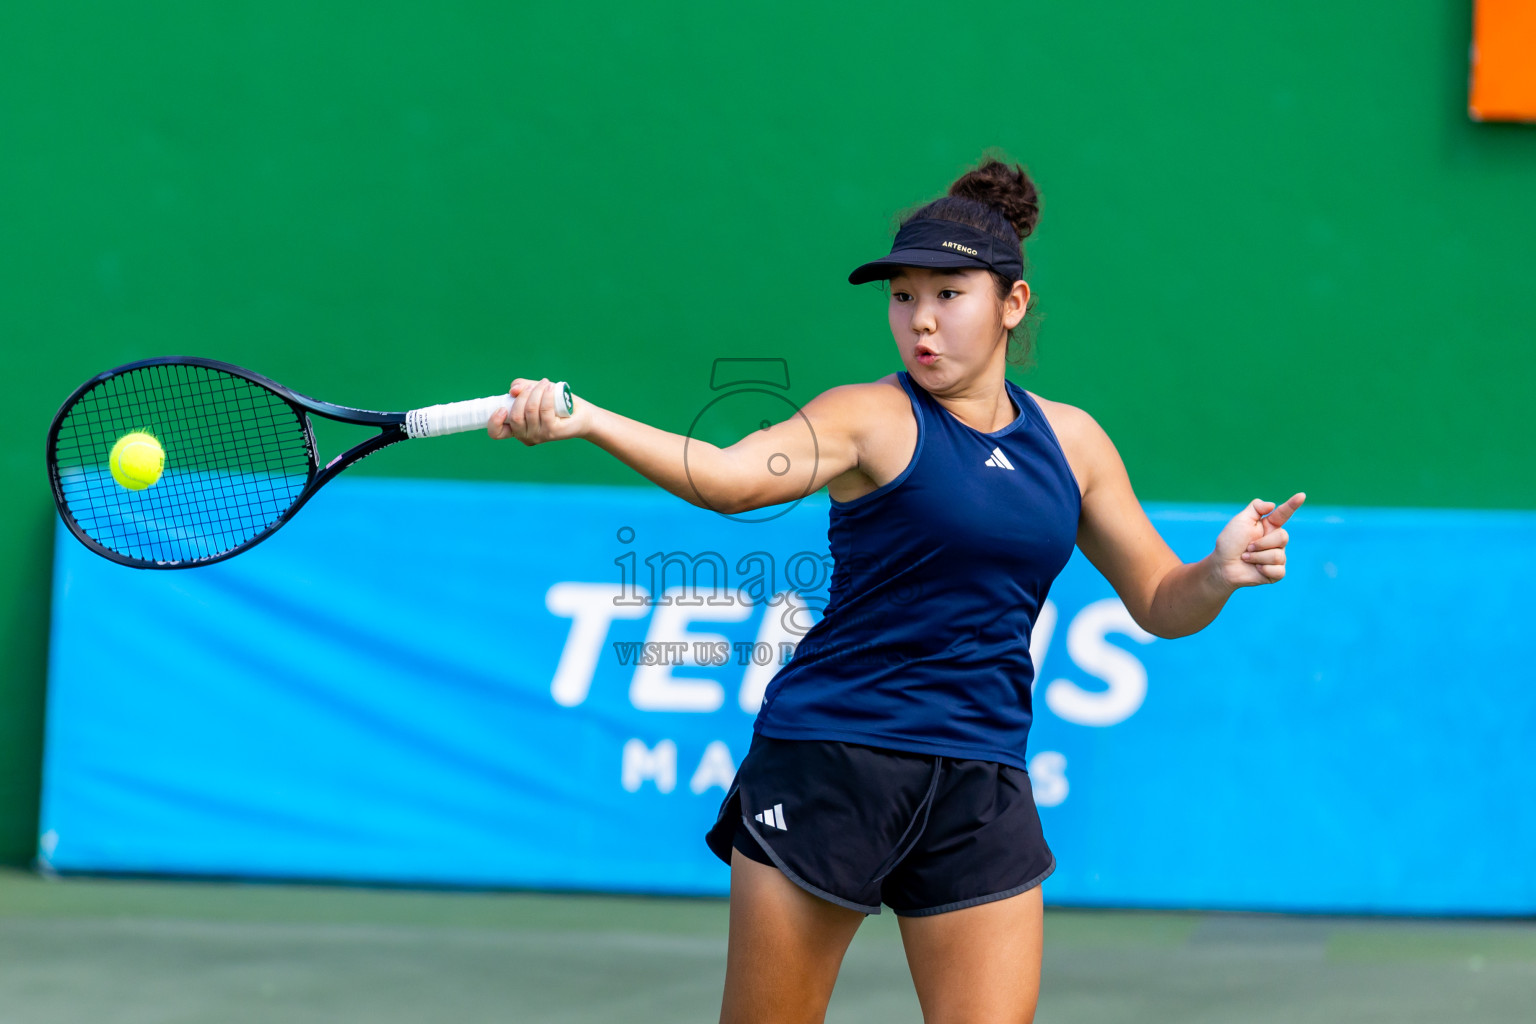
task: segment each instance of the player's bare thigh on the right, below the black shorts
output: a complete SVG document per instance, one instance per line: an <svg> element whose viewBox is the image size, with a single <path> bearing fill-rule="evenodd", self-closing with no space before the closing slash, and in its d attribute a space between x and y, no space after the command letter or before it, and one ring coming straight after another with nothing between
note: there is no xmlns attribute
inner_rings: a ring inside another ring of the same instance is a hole
<svg viewBox="0 0 1536 1024"><path fill-rule="evenodd" d="M1040 996L1040 886L931 917L903 917L925 1024L1028 1024Z"/></svg>

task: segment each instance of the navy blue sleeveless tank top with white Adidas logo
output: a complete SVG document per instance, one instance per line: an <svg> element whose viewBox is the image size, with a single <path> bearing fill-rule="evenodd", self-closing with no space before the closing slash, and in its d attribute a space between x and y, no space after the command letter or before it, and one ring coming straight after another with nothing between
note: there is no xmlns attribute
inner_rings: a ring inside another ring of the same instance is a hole
<svg viewBox="0 0 1536 1024"><path fill-rule="evenodd" d="M1077 543L1081 496L1044 413L974 430L897 375L917 418L906 468L833 502L822 620L774 676L756 731L1026 768L1029 634Z"/></svg>

